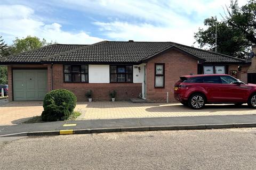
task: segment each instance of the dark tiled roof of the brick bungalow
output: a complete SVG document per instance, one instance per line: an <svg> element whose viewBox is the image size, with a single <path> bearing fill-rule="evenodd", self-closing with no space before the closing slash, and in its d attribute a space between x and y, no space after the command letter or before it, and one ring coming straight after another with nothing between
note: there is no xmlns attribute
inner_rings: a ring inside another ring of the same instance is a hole
<svg viewBox="0 0 256 170"><path fill-rule="evenodd" d="M177 49L203 63L245 63L245 60L172 42L101 41L92 45L54 44L0 59L14 63L141 63Z"/></svg>

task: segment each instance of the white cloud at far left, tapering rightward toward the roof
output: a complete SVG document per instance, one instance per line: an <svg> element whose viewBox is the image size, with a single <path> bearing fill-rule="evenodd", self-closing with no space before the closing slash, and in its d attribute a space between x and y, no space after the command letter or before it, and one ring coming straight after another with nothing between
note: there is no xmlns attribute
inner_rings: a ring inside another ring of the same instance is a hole
<svg viewBox="0 0 256 170"><path fill-rule="evenodd" d="M8 11L8 12L6 12ZM59 23L45 24L34 17L34 10L23 5L0 5L0 32L11 43L15 37L28 35L57 41L63 44L92 44L103 39L92 37L86 32L67 32L61 30Z"/></svg>

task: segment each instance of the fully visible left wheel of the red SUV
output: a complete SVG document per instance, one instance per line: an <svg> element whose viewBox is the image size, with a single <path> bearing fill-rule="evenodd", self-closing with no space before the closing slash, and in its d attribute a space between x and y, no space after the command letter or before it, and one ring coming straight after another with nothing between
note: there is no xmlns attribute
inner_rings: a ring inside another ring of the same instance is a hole
<svg viewBox="0 0 256 170"><path fill-rule="evenodd" d="M205 97L202 94L193 94L188 99L188 105L193 109L201 109L204 107L205 101Z"/></svg>

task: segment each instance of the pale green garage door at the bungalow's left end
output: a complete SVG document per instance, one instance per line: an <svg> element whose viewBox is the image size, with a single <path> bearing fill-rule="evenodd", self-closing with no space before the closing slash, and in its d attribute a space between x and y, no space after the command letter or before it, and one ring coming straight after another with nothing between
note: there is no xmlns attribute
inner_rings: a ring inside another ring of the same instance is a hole
<svg viewBox="0 0 256 170"><path fill-rule="evenodd" d="M43 100L47 92L47 70L13 70L13 99Z"/></svg>

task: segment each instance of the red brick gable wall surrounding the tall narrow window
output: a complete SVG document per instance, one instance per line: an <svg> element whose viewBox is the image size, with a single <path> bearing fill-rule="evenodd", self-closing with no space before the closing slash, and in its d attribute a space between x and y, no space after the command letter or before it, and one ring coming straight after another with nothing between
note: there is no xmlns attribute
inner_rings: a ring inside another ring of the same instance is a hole
<svg viewBox="0 0 256 170"><path fill-rule="evenodd" d="M155 63L165 63L165 84L164 88L155 88ZM171 50L159 55L147 63L147 100L154 102L165 102L166 93L169 92L169 102L176 101L173 97L174 84L181 75L197 74L197 60Z"/></svg>

